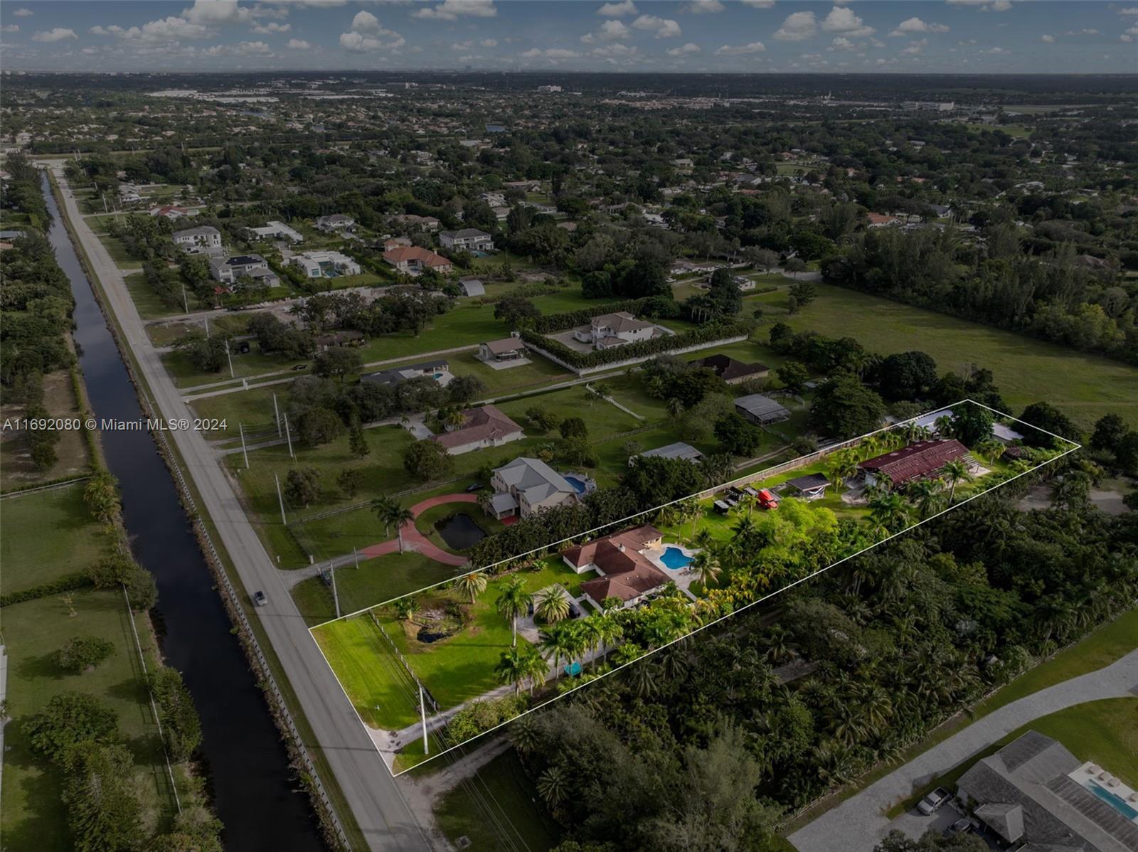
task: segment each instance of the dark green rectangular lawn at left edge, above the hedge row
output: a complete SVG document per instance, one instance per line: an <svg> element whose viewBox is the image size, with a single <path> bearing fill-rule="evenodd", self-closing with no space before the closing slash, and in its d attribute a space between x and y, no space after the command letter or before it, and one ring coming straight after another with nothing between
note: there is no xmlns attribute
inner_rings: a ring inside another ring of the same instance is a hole
<svg viewBox="0 0 1138 852"><path fill-rule="evenodd" d="M0 564L5 594L82 571L106 546L83 503L83 483L0 503Z"/></svg>

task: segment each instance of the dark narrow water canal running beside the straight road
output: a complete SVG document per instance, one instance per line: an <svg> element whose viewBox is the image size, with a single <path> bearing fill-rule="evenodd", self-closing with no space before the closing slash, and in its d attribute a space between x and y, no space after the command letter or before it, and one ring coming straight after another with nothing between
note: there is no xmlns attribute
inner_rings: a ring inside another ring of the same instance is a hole
<svg viewBox="0 0 1138 852"><path fill-rule="evenodd" d="M75 344L93 414L142 417L134 386L63 225L47 176L49 239L75 296ZM155 623L167 664L182 672L201 717L201 758L226 850L323 850L307 795L237 637L154 439L143 431L101 436L118 480L134 557L158 584Z"/></svg>

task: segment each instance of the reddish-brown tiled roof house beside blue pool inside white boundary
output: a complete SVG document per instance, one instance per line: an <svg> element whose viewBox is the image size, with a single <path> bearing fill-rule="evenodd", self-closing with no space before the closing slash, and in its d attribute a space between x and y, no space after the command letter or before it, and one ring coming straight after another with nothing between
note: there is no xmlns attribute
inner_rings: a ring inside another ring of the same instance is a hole
<svg viewBox="0 0 1138 852"><path fill-rule="evenodd" d="M608 597L616 597L625 606L635 606L671 580L644 555L662 544L660 530L645 523L570 547L561 553L561 559L577 573L596 571L601 574L580 586L597 609Z"/></svg>

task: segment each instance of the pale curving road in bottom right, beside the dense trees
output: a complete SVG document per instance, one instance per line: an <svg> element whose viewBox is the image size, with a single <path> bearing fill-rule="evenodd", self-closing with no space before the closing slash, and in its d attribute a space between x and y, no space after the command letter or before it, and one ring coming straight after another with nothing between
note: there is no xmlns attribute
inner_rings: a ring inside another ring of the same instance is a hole
<svg viewBox="0 0 1138 852"><path fill-rule="evenodd" d="M995 710L871 784L790 836L800 852L871 852L885 835L890 820L883 811L987 748L1006 734L1041 715L1100 698L1138 694L1138 651L1110 665L1040 689Z"/></svg>

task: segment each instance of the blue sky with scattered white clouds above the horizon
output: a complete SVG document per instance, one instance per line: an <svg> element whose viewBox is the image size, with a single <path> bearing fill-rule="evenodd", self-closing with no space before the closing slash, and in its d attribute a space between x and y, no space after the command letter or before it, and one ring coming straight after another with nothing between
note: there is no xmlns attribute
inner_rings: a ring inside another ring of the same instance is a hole
<svg viewBox="0 0 1138 852"><path fill-rule="evenodd" d="M1138 0L0 1L3 71L1138 73Z"/></svg>

